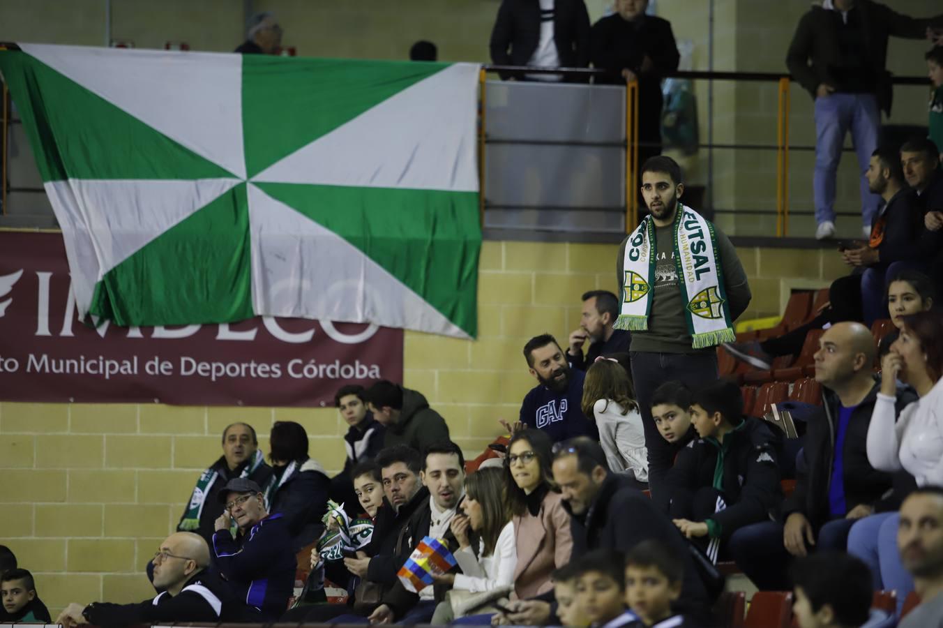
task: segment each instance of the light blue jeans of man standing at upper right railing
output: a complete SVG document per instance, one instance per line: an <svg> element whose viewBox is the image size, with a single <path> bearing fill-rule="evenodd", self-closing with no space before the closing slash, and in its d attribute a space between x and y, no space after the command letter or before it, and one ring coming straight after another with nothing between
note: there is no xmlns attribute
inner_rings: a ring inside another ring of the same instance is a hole
<svg viewBox="0 0 943 628"><path fill-rule="evenodd" d="M868 189L868 164L878 147L881 111L877 98L869 93L833 93L816 98L816 170L812 187L816 202L816 222L835 222L835 175L845 136L852 132L854 152L861 170L861 220L870 226L880 196Z"/></svg>

